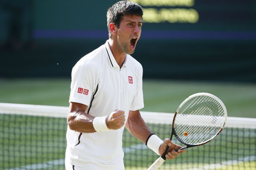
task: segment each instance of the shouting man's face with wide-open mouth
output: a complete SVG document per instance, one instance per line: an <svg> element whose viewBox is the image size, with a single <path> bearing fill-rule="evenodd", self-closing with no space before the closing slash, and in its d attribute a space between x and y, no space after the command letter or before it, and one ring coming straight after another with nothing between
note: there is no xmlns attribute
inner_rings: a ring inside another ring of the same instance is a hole
<svg viewBox="0 0 256 170"><path fill-rule="evenodd" d="M117 33L117 41L122 51L126 54L134 53L137 41L140 38L141 27L141 16L123 16Z"/></svg>

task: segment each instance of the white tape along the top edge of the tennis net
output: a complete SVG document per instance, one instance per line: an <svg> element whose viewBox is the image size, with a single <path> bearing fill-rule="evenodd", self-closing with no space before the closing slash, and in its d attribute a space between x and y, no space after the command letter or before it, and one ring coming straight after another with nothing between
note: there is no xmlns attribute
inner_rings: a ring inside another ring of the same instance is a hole
<svg viewBox="0 0 256 170"><path fill-rule="evenodd" d="M25 105L0 103L0 114L24 114L31 116L47 116L66 118L69 107L45 106L45 105ZM140 112L146 123L172 124L173 113L162 112ZM156 116L157 115L157 116ZM246 124L244 122L246 121ZM256 128L255 118L231 117L227 119L225 128Z"/></svg>

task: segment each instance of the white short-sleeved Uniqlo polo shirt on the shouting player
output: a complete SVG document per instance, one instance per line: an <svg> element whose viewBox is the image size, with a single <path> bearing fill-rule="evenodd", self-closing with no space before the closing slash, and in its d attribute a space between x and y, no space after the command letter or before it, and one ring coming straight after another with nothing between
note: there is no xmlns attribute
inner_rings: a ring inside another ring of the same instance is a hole
<svg viewBox="0 0 256 170"><path fill-rule="evenodd" d="M107 116L116 109L144 107L142 65L126 54L122 68L116 63L108 41L87 54L72 69L69 102L88 106L92 116ZM122 134L119 130L80 133L68 128L66 161L85 170L124 170Z"/></svg>

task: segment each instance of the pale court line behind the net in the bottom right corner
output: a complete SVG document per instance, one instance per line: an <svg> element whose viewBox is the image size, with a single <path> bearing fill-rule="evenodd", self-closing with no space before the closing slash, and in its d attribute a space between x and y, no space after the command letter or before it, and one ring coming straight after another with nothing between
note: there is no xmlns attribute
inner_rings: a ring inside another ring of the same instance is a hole
<svg viewBox="0 0 256 170"><path fill-rule="evenodd" d="M198 168L191 168L188 170L212 170L216 168L222 168L224 166L232 166L232 165L237 165L239 163L249 162L249 161L256 161L256 155L251 155L244 158L238 158L238 159L229 160L229 161L223 161L221 163L212 163L209 165L204 165Z"/></svg>

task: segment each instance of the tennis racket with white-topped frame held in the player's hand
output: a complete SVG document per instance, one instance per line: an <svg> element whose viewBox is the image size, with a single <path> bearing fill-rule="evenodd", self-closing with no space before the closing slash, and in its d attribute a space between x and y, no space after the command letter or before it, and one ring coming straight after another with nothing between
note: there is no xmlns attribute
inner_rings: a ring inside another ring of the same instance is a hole
<svg viewBox="0 0 256 170"><path fill-rule="evenodd" d="M227 109L223 102L210 93L190 95L178 107L173 117L171 137L185 144L186 149L206 144L217 137L227 120ZM166 160L168 146L148 170L157 170ZM175 150L178 151L179 149Z"/></svg>

